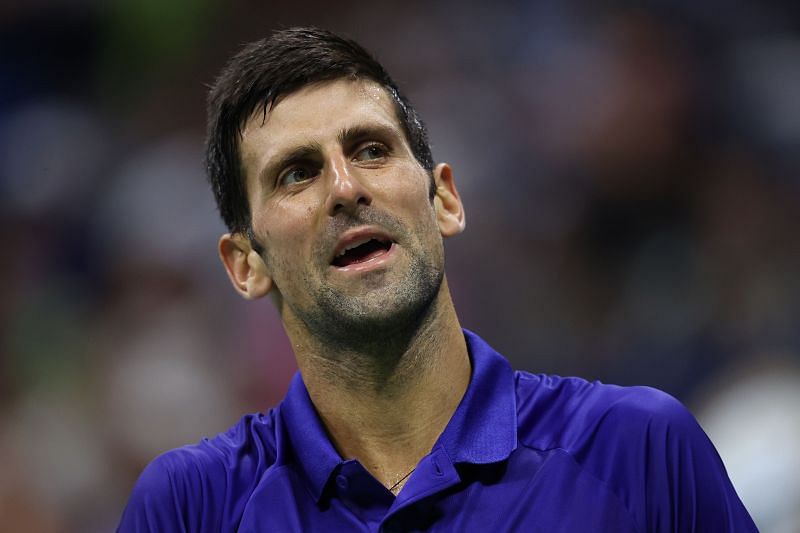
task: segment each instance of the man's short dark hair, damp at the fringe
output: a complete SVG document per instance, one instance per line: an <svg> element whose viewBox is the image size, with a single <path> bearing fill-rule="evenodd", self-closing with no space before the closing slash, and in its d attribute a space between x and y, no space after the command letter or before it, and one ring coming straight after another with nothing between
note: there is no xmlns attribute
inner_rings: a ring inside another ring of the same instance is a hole
<svg viewBox="0 0 800 533"><path fill-rule="evenodd" d="M223 68L208 98L206 170L223 222L252 239L250 205L239 144L247 120L281 96L340 78L368 79L383 87L411 151L433 170L428 134L409 101L369 52L353 40L319 28L291 28L246 45Z"/></svg>

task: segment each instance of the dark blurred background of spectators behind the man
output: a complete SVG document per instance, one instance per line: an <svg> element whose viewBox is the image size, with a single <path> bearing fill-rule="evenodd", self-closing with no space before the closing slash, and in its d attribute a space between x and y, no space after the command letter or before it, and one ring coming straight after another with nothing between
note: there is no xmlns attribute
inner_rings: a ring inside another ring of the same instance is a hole
<svg viewBox="0 0 800 533"><path fill-rule="evenodd" d="M0 530L114 528L144 465L282 398L216 258L204 100L274 28L356 38L454 168L465 327L664 389L800 531L800 4L0 2Z"/></svg>

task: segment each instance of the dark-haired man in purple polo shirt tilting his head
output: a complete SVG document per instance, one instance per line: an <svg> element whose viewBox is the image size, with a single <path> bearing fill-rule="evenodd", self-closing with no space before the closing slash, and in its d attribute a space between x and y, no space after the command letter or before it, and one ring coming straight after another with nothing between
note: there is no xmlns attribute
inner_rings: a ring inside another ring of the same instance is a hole
<svg viewBox="0 0 800 533"><path fill-rule="evenodd" d="M460 328L453 171L359 45L245 47L207 158L222 262L272 297L300 373L267 414L155 459L120 531L755 531L676 400L515 373Z"/></svg>

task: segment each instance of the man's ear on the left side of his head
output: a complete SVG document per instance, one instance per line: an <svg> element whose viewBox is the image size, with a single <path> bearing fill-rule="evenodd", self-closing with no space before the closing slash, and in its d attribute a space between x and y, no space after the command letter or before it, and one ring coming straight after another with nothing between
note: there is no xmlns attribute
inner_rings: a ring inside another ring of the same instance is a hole
<svg viewBox="0 0 800 533"><path fill-rule="evenodd" d="M248 300L255 300L269 293L272 278L267 265L250 246L250 241L239 233L226 233L219 238L219 258L225 265L233 288Z"/></svg>

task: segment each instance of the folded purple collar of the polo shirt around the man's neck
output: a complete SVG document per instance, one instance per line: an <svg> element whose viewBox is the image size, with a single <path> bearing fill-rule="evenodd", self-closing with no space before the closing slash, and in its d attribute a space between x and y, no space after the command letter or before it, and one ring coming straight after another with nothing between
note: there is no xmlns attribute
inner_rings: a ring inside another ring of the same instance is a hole
<svg viewBox="0 0 800 533"><path fill-rule="evenodd" d="M472 376L450 422L433 448L442 447L454 463L502 461L517 445L514 372L506 359L483 339L464 330ZM279 460L291 451L315 501L344 462L331 444L298 372L283 400L281 419L288 441L279 436Z"/></svg>

